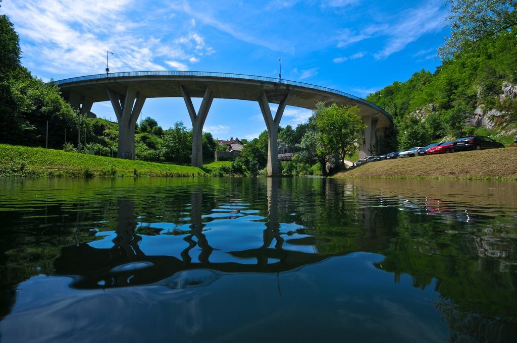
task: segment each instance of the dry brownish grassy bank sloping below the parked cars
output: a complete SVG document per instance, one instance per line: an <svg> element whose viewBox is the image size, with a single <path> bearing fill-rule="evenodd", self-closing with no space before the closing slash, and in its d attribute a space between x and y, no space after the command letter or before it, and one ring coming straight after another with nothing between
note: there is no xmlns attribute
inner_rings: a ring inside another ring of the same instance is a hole
<svg viewBox="0 0 517 343"><path fill-rule="evenodd" d="M464 151L372 162L342 171L334 177L517 180L517 148Z"/></svg>

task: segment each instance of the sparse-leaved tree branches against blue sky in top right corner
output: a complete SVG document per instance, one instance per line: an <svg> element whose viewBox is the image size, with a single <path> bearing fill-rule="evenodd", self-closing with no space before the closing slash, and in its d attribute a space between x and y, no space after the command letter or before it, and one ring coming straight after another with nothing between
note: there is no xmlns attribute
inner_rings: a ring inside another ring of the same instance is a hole
<svg viewBox="0 0 517 343"><path fill-rule="evenodd" d="M446 59L469 49L485 37L504 32L517 25L515 0L447 0L450 37L438 48Z"/></svg>

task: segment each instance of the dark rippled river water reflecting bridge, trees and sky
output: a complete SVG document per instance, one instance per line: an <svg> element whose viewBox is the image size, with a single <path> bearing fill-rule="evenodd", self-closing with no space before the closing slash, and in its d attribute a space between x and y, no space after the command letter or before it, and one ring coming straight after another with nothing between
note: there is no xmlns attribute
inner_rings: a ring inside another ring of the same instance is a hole
<svg viewBox="0 0 517 343"><path fill-rule="evenodd" d="M0 341L511 341L517 183L0 180Z"/></svg>

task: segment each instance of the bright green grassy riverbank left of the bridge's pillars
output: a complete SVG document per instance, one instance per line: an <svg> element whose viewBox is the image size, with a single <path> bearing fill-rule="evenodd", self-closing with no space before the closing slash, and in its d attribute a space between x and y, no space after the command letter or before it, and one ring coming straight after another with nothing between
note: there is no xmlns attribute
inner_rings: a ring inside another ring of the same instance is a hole
<svg viewBox="0 0 517 343"><path fill-rule="evenodd" d="M0 144L0 176L93 177L93 176L208 176L219 173L223 163L203 168L130 161L62 150Z"/></svg>

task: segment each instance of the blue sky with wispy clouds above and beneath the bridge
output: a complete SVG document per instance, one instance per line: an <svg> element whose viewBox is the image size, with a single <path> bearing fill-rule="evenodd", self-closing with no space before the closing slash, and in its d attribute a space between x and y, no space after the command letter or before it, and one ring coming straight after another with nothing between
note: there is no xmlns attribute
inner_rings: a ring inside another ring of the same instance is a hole
<svg viewBox="0 0 517 343"><path fill-rule="evenodd" d="M202 70L278 77L359 97L439 65L448 34L444 0L4 0L20 35L22 64L44 81L111 72ZM199 106L200 99L194 99ZM272 106L274 109L275 106ZM108 102L92 109L115 120ZM191 127L180 98L147 99L143 116ZM281 126L310 111L287 107ZM258 103L215 99L205 131L253 138Z"/></svg>

